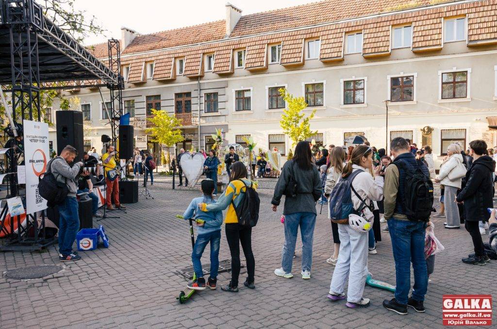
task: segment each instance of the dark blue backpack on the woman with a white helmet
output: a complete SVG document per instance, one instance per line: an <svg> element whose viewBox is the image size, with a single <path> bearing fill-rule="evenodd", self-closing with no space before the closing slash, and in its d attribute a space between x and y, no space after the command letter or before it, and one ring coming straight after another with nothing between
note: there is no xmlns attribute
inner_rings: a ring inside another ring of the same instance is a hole
<svg viewBox="0 0 497 329"><path fill-rule="evenodd" d="M354 213L356 215L359 214L359 211L354 210L350 192L351 190L354 191L354 194L362 201L362 204L365 205L365 201L357 194L357 192L352 187L352 181L354 180L355 176L363 172L363 170L356 170L348 175L347 178L340 178L333 187L330 199L330 216L333 223L347 224L348 215L350 215L351 213Z"/></svg>

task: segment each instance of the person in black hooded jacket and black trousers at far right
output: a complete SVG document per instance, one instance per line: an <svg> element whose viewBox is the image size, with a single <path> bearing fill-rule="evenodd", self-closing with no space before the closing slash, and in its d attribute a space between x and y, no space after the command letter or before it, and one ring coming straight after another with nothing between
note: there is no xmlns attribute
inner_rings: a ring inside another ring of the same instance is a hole
<svg viewBox="0 0 497 329"><path fill-rule="evenodd" d="M456 202L464 202L466 217L464 226L473 239L475 254L462 261L466 264L485 265L488 256L485 254L478 222L488 222L490 214L487 208L494 207L492 174L495 172L496 162L490 156L484 155L487 149L484 140L473 140L469 146L474 161L471 169L466 173L466 186L456 197Z"/></svg>

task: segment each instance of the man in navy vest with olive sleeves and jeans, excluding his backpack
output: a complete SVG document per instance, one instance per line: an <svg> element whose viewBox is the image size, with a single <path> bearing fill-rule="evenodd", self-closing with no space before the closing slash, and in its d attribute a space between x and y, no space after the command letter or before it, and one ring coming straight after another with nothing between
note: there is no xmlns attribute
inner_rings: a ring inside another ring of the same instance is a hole
<svg viewBox="0 0 497 329"><path fill-rule="evenodd" d="M402 137L397 137L390 143L390 150L395 156L394 162L403 162L401 168L410 172L419 165L423 174L430 177L428 168L421 161L417 162L411 153L411 145ZM395 164L390 164L385 173L385 219L388 221L388 230L392 239L392 251L395 260L397 286L395 298L384 300L383 306L398 314L407 314L407 307L416 312L424 312L424 295L428 285L426 261L424 258L424 234L426 222L411 221L407 218L405 209L404 183L406 172ZM414 269L414 289L411 297L411 262Z"/></svg>

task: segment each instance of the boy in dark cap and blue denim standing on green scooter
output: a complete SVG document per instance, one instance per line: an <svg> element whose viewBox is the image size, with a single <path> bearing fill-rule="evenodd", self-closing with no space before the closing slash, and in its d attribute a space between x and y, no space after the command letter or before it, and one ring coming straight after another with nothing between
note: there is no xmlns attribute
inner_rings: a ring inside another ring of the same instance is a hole
<svg viewBox="0 0 497 329"><path fill-rule="evenodd" d="M212 197L215 189L215 183L211 179L204 179L201 182L201 190L204 194L202 197L196 197L191 200L190 205L185 210L183 218L188 220L195 219L197 223L197 238L191 260L193 262L193 270L195 271L196 279L188 282L187 287L194 290L204 290L206 285L212 290L216 289L217 274L219 268L219 244L221 242L221 225L223 224L222 211L198 211L199 203L215 203L216 200ZM205 282L204 273L202 271L202 263L200 259L207 244L211 244L211 270L209 279Z"/></svg>

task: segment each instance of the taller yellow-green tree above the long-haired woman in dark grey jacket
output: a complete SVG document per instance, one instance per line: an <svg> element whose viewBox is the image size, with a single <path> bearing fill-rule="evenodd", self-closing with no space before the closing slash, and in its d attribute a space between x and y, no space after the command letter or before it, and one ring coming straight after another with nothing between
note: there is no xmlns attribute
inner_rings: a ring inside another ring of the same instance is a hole
<svg viewBox="0 0 497 329"><path fill-rule="evenodd" d="M294 97L292 94L288 93L285 88L281 88L279 92L281 96L283 96L287 106L281 115L280 127L292 140L293 147L297 142L318 133L311 131L310 124L310 121L316 114L316 110L313 110L306 118L305 114L302 112L307 107L304 97Z"/></svg>

